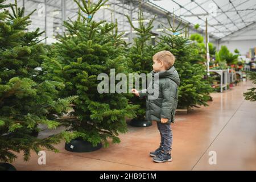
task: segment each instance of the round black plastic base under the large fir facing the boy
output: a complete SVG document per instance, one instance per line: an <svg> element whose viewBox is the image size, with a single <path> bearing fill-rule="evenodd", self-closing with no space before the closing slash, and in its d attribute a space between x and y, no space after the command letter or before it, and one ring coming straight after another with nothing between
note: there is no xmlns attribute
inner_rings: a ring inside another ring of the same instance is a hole
<svg viewBox="0 0 256 182"><path fill-rule="evenodd" d="M65 150L69 152L92 152L100 150L101 147L101 143L94 147L92 143L82 139L73 139L70 143L65 143Z"/></svg>

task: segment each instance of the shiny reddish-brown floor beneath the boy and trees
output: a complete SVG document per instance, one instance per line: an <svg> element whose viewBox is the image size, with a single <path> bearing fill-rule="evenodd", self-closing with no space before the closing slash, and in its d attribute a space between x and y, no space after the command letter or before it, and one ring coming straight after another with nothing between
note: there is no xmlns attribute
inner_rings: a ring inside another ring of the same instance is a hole
<svg viewBox="0 0 256 182"><path fill-rule="evenodd" d="M213 93L209 107L189 114L177 114L172 125L173 162L152 162L148 153L159 144L156 124L147 128L129 126L120 144L89 153L46 151L46 165L32 153L29 162L22 154L13 165L18 170L256 170L256 102L245 101L243 92L250 81L224 93ZM216 152L217 164L209 164L209 152Z"/></svg>

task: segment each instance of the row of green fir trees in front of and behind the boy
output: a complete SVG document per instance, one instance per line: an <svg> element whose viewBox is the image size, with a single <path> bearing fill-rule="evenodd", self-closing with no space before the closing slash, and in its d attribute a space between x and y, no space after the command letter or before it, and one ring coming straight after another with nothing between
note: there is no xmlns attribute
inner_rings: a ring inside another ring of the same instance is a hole
<svg viewBox="0 0 256 182"><path fill-rule="evenodd" d="M119 133L127 131L126 118L143 120L145 100L137 100L132 94L98 93L97 77L113 74L150 73L152 56L162 50L171 51L179 72L179 108L207 106L212 89L205 77L205 65L197 63L199 46L189 39L176 36L169 21L168 32L160 36L158 44L152 45L152 24L143 21L138 14L136 27L129 16L137 37L132 45L122 40L117 23L94 20L94 14L108 0L92 3L77 1L78 18L64 22L65 32L51 46L42 44L39 29L29 31L30 15L24 8L7 5L0 0L0 161L13 162L16 152L23 152L28 160L30 152L40 148L57 151L54 144L65 139L70 142L82 138L96 146L110 140L119 143ZM8 10L9 11L8 11ZM200 58L202 59L202 57ZM129 90L127 90L129 92ZM67 114L74 120L59 119ZM67 130L39 139L39 125L48 129L65 126Z"/></svg>

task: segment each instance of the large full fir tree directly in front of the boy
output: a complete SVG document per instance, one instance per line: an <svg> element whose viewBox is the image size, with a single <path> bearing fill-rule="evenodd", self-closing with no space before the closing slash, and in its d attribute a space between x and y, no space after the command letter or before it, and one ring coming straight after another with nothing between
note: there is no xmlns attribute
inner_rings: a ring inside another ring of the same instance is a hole
<svg viewBox="0 0 256 182"><path fill-rule="evenodd" d="M110 84L111 88L107 85L105 92L98 92L101 80L97 77L101 73L106 78L127 73L126 57L122 55L124 47L120 36L113 38L116 24L93 20L94 14L107 1L75 2L79 6L79 16L75 21L64 22L66 32L59 37L59 43L53 45L52 55L55 57L48 59L43 71L45 77L64 83L62 96L79 96L71 113L76 121L63 123L71 126L77 138L93 146L104 142L107 147L109 138L113 143L120 142L119 133L127 131L125 117L134 117L137 109L137 106L128 104L123 94L114 92L115 80ZM122 89L127 93L124 85Z"/></svg>

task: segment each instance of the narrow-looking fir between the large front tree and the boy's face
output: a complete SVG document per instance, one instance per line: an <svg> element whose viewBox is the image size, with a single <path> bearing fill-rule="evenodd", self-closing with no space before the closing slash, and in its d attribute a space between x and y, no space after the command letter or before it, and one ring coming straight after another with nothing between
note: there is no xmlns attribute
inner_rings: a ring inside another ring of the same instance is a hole
<svg viewBox="0 0 256 182"><path fill-rule="evenodd" d="M148 23L145 23L144 15L140 8L140 11L138 13L138 27L135 27L130 17L127 15L126 17L129 20L131 27L133 27L134 30L137 31L137 37L134 38L133 46L131 46L129 48L129 51L126 52L126 56L130 59L128 62L128 66L129 68L131 68L131 71L133 73L138 73L138 75L144 73L147 75L152 71L152 57L156 53L156 49L154 46L152 46L151 43L151 31L153 28L152 24L155 18L151 19ZM146 101L138 100L138 98L136 98L135 96L131 98L130 101L133 104L141 106L136 112L136 119L138 121L144 121L146 114Z"/></svg>

